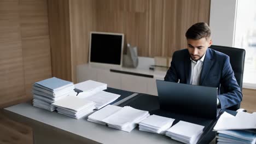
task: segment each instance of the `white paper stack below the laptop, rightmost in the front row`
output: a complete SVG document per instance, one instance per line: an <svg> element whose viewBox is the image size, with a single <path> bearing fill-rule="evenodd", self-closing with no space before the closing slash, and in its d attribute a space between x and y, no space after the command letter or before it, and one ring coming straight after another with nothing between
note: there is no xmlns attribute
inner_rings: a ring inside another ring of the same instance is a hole
<svg viewBox="0 0 256 144"><path fill-rule="evenodd" d="M166 131L166 136L183 143L196 143L203 133L203 126L179 121Z"/></svg>

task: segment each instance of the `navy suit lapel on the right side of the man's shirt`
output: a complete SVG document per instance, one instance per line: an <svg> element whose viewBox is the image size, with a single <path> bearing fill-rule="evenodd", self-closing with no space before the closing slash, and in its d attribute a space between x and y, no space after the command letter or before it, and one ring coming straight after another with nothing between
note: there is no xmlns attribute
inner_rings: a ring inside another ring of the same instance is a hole
<svg viewBox="0 0 256 144"><path fill-rule="evenodd" d="M207 74L209 73L212 64L213 64L213 58L212 58L212 53L210 51L210 49L208 48L206 51L206 55L205 55L205 59L203 61L203 65L202 65L202 71L201 71L201 77L200 77L200 84L202 85L203 81L205 80L205 77L207 76Z"/></svg>

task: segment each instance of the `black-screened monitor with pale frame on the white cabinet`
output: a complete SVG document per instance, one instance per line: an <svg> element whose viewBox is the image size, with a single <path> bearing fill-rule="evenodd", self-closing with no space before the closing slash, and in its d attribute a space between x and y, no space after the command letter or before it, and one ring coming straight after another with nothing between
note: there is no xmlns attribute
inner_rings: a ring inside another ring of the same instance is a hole
<svg viewBox="0 0 256 144"><path fill-rule="evenodd" d="M121 65L124 34L91 32L89 63Z"/></svg>

